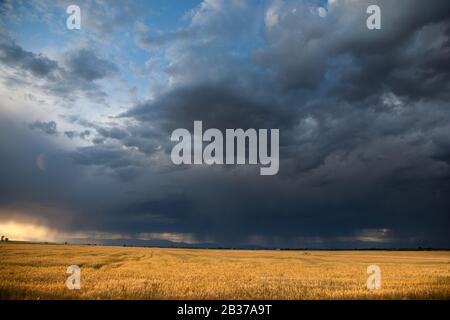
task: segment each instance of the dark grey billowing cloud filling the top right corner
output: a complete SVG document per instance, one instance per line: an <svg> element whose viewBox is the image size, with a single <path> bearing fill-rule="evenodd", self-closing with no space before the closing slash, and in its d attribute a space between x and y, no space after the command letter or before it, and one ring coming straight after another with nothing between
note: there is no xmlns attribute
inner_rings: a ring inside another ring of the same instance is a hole
<svg viewBox="0 0 450 320"><path fill-rule="evenodd" d="M287 2L277 8L269 45L257 51L256 59L290 90L320 87L351 100L385 88L400 95L445 96L448 81L441 79L448 77L443 59L448 50L439 42L447 38L443 32L449 26L450 4L371 4L382 10L382 29L376 32L365 27L365 1L330 4L326 18L311 14L304 4ZM430 65L440 67L431 71Z"/></svg>

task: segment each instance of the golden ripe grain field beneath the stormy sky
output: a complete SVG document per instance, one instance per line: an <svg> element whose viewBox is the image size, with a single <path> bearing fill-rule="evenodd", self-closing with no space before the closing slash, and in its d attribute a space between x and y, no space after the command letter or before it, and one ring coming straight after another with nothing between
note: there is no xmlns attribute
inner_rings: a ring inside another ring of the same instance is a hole
<svg viewBox="0 0 450 320"><path fill-rule="evenodd" d="M367 266L381 289L366 287ZM69 265L81 289L66 287ZM450 299L450 252L0 244L0 299Z"/></svg>

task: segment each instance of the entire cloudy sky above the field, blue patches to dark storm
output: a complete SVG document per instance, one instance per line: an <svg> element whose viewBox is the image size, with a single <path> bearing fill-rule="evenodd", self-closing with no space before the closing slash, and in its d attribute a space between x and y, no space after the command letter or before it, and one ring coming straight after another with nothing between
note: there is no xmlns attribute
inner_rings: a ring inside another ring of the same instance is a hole
<svg viewBox="0 0 450 320"><path fill-rule="evenodd" d="M449 56L448 0L0 1L0 232L449 247ZM278 175L175 166L194 120L279 128Z"/></svg>

